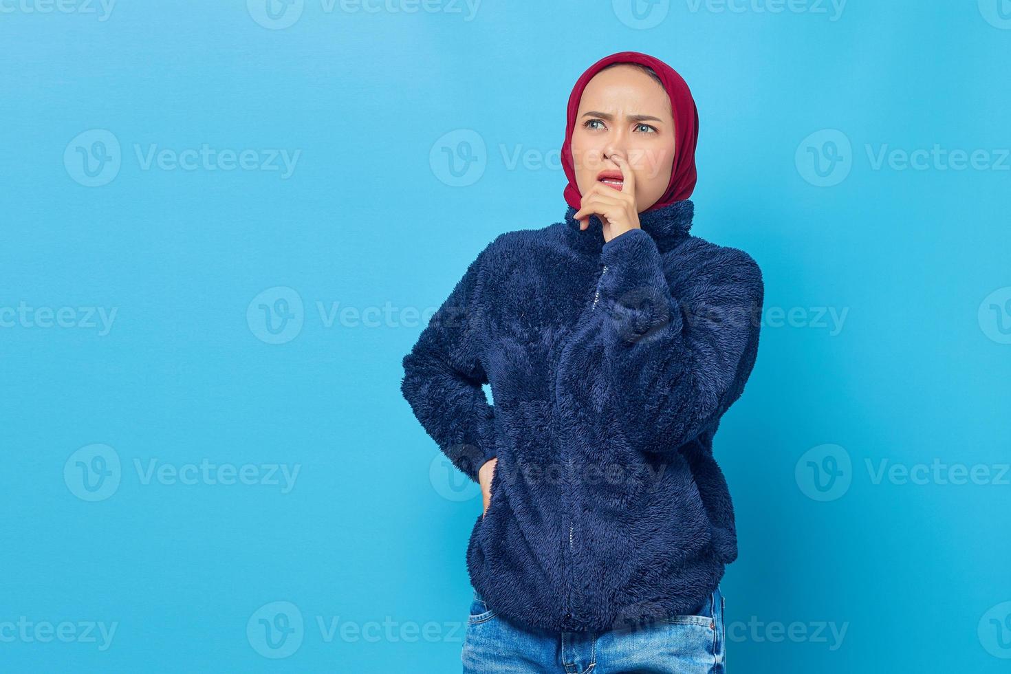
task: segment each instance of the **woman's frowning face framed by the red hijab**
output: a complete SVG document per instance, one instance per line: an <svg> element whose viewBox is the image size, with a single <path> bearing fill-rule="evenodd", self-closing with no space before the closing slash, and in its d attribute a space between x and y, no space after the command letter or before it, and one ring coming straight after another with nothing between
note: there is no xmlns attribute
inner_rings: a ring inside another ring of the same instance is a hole
<svg viewBox="0 0 1011 674"><path fill-rule="evenodd" d="M635 173L636 208L641 213L652 206L666 191L674 166L674 119L663 87L634 66L594 75L579 100L571 151L580 194L602 177L621 176L611 159L620 154ZM620 179L606 184L622 188Z"/></svg>

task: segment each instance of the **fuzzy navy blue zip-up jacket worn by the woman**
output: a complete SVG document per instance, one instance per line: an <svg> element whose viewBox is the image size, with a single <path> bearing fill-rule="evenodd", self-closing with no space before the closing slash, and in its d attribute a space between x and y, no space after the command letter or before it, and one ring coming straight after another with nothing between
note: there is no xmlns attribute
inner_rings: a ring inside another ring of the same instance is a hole
<svg viewBox="0 0 1011 674"><path fill-rule="evenodd" d="M498 459L466 562L505 618L683 614L737 558L713 435L754 366L763 285L748 254L690 232L694 210L607 243L571 206L498 235L403 357L400 390L453 465L477 482Z"/></svg>

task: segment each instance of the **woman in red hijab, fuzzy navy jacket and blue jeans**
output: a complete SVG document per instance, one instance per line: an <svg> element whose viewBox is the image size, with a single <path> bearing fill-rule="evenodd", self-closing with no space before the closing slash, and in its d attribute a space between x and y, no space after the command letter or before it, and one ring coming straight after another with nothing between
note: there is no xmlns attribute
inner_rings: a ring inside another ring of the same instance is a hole
<svg viewBox="0 0 1011 674"><path fill-rule="evenodd" d="M690 233L697 138L673 69L595 63L568 102L564 220L498 235L403 358L411 409L485 496L465 672L725 670L737 538L713 435L763 286Z"/></svg>

